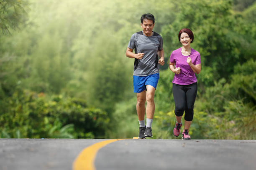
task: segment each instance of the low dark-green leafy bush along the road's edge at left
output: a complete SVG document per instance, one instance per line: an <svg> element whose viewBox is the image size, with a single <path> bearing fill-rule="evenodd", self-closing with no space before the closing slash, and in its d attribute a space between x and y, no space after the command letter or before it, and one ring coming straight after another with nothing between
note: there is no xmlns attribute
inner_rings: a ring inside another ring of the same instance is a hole
<svg viewBox="0 0 256 170"><path fill-rule="evenodd" d="M104 138L109 118L80 99L16 91L0 114L2 138Z"/></svg>

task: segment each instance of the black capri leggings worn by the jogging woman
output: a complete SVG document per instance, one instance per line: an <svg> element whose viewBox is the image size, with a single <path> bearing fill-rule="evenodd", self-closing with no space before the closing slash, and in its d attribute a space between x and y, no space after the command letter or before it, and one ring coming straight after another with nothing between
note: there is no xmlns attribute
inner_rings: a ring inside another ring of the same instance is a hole
<svg viewBox="0 0 256 170"><path fill-rule="evenodd" d="M182 116L185 110L184 119L192 121L194 116L194 103L197 96L197 82L190 85L172 84L173 98L175 102L175 115Z"/></svg>

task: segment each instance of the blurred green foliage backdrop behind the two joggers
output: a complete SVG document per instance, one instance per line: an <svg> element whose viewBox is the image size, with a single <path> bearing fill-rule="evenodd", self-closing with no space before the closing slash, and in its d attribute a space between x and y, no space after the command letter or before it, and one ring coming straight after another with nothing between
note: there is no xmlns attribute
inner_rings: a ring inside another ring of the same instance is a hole
<svg viewBox="0 0 256 170"><path fill-rule="evenodd" d="M256 139L255 0L0 0L0 137L138 136L133 59L140 17L164 40L152 124L176 139L172 50L190 28L199 51L193 139ZM184 121L184 120L183 120ZM180 139L180 138L178 138Z"/></svg>

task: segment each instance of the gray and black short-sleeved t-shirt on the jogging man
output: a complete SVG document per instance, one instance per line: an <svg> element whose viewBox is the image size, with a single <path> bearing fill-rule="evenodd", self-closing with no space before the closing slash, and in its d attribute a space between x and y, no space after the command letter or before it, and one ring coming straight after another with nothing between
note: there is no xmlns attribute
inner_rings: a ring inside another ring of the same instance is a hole
<svg viewBox="0 0 256 170"><path fill-rule="evenodd" d="M161 35L153 32L151 37L143 34L143 31L136 32L131 36L128 48L135 49L135 53L144 53L141 60L135 58L133 75L146 76L159 73L157 51L163 49Z"/></svg>

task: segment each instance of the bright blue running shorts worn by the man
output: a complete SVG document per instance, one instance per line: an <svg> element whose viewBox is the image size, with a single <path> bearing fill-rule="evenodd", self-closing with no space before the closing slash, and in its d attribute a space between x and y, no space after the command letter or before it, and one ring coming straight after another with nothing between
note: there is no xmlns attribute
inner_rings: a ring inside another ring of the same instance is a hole
<svg viewBox="0 0 256 170"><path fill-rule="evenodd" d="M147 75L147 76L133 75L134 92L136 93L143 92L146 89L146 85L151 85L156 89L158 80L159 80L159 73Z"/></svg>

